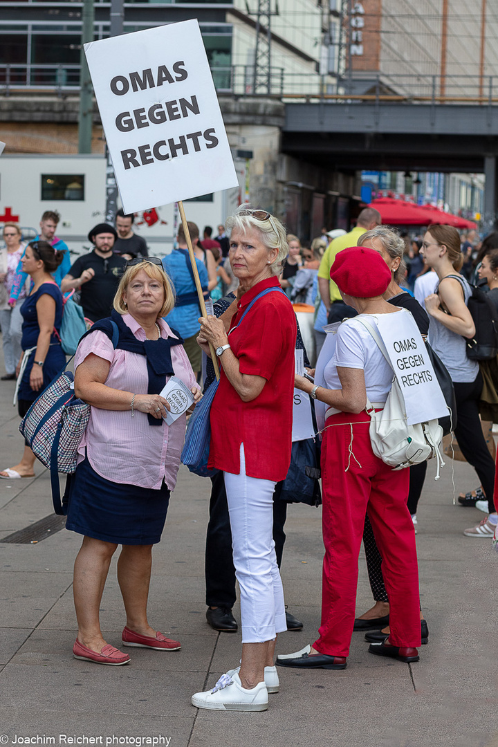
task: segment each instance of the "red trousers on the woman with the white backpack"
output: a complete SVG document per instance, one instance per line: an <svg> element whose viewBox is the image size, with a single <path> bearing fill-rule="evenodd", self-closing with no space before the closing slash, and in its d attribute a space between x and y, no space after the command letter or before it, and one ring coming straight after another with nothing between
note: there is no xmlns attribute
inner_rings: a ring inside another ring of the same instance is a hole
<svg viewBox="0 0 498 747"><path fill-rule="evenodd" d="M417 549L408 469L374 456L366 412L327 418L322 443L323 558L320 654L348 656L355 622L358 556L368 511L390 604L390 642L420 645Z"/></svg>

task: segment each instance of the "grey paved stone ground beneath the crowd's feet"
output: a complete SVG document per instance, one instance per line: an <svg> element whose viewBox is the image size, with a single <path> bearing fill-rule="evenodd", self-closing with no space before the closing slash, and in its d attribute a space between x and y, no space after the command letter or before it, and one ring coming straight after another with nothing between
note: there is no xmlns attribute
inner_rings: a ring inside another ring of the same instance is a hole
<svg viewBox="0 0 498 747"><path fill-rule="evenodd" d="M12 394L13 382L1 382L0 468L16 464L22 450ZM454 468L457 492L476 485L468 465L455 462ZM102 737L104 746L128 737L136 747L134 737L160 736L159 744L171 747L498 747L498 555L490 540L462 535L482 514L452 505L451 461L438 483L429 466L418 512L420 589L430 629L420 662L379 660L355 633L343 672L280 670L280 692L270 696L265 713L190 705L193 692L214 684L240 657L240 634L215 633L205 622L208 480L181 469L154 553L149 618L178 637L182 650L131 649L132 663L113 668L72 658L72 563L81 538L61 530L37 544L1 542L52 512L49 475L41 465L36 472L33 480L0 480L0 745L36 735L41 744L51 743L43 735L66 744L65 734ZM289 509L282 577L289 609L305 629L279 636L281 653L302 648L317 633L320 514L307 506ZM370 605L362 556L358 613ZM123 615L113 563L102 625L114 645Z"/></svg>

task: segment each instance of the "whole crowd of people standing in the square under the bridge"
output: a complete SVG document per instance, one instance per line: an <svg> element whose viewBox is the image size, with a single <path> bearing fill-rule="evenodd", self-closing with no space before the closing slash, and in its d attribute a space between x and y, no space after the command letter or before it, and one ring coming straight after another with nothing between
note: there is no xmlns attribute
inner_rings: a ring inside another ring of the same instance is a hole
<svg viewBox="0 0 498 747"><path fill-rule="evenodd" d="M73 655L113 666L130 661L106 640L99 621L119 545L122 645L181 648L151 627L147 600L152 547L161 541L187 416L202 399L203 384L204 393L216 387L206 619L214 630L238 630L232 613L237 579L242 652L240 666L214 688L196 692L193 705L266 710L269 693L280 686L277 666L345 669L355 630L366 632L371 654L417 661L418 648L429 640L415 544L427 465L394 470L373 451L367 406L382 412L393 371L368 324L379 330L382 321L403 339L414 320L446 367L455 391L453 430L480 482L459 500L484 503L486 510L464 535L494 536L495 463L479 415L483 379L466 341L476 333L467 307L469 279L486 285L498 311L498 234L481 247L469 237L469 249L456 229L429 226L423 239L406 241L381 225L376 210L364 208L349 233L324 227L302 244L277 217L242 205L214 239L209 226L202 240L195 223L187 223L188 235L180 226L175 248L158 258L134 234L134 217L119 211L116 226L95 226L88 234L92 251L71 263L69 249L55 237L58 219L55 212L43 214L40 234L27 244L19 226L4 224L1 378L16 379L23 418L66 364L63 294L74 294L88 327L75 354L75 395L90 405L90 421L64 496L66 528L83 537L74 567ZM207 317L195 274L205 300L215 302ZM296 373L296 350L303 351L305 376ZM220 368L217 384L211 356ZM168 425L169 403L161 392L170 376L190 389L193 405ZM322 615L313 643L276 657L278 633L303 627L284 604L280 576L287 513L281 492L295 459L295 389L323 413ZM0 478L34 477L34 463L26 441L22 459ZM362 539L374 604L357 617Z"/></svg>

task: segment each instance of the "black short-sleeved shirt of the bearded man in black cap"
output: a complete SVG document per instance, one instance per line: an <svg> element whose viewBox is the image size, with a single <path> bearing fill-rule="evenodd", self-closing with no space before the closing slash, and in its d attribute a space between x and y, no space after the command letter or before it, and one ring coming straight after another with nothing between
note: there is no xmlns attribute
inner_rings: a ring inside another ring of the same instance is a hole
<svg viewBox="0 0 498 747"><path fill-rule="evenodd" d="M69 275L73 278L80 277L81 273L90 267L95 272L91 280L81 285L81 306L84 315L93 322L105 319L111 314L114 296L125 266L126 260L119 254L111 254L105 259L94 250L90 254L78 257L69 270Z"/></svg>

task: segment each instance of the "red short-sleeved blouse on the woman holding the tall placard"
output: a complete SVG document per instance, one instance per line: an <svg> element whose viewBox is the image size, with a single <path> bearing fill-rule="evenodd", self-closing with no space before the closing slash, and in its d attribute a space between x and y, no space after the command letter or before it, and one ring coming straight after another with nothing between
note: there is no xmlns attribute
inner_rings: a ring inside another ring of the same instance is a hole
<svg viewBox="0 0 498 747"><path fill-rule="evenodd" d="M263 376L267 383L255 400L243 402L220 371L211 405L208 466L240 474L240 444L244 444L246 474L278 482L290 465L296 315L284 294L268 293L234 329L252 299L273 287L279 287L277 277L258 282L243 295L231 320L228 340L239 359L240 373Z"/></svg>

